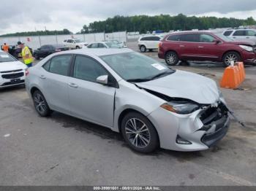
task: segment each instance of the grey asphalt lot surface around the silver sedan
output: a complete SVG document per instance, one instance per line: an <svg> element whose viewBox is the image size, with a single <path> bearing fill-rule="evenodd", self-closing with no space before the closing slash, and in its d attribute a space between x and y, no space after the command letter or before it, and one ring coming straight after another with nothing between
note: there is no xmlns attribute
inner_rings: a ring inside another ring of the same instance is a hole
<svg viewBox="0 0 256 191"><path fill-rule="evenodd" d="M207 63L175 68L217 81L224 70ZM22 87L1 90L0 185L256 185L255 72L246 68L246 90L222 89L246 128L232 122L216 147L201 152L141 155L99 125L57 112L39 117Z"/></svg>

